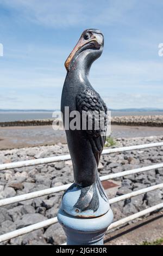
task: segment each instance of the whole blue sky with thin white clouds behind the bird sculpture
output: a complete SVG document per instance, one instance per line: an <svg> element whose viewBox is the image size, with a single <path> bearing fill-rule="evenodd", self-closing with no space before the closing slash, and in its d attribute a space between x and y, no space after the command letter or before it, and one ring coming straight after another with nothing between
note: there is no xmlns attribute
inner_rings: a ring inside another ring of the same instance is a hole
<svg viewBox="0 0 163 256"><path fill-rule="evenodd" d="M58 109L64 62L86 28L104 52L90 81L109 108L163 108L162 0L0 0L0 109Z"/></svg>

